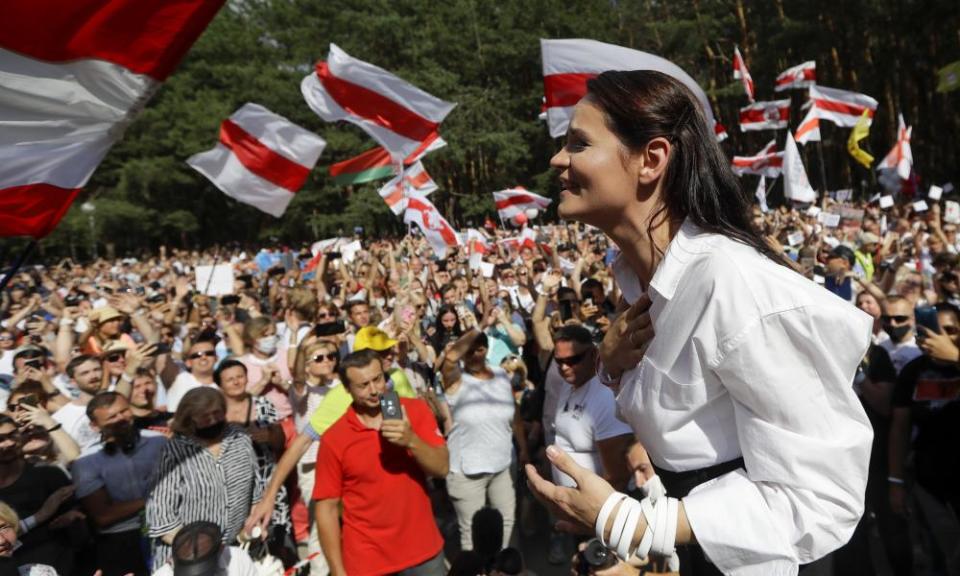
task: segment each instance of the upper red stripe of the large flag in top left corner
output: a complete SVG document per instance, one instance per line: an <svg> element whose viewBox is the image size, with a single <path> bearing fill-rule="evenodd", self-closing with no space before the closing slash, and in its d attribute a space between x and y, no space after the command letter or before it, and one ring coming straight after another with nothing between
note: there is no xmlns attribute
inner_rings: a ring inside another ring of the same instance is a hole
<svg viewBox="0 0 960 576"><path fill-rule="evenodd" d="M224 0L4 2L0 46L48 62L94 58L163 81Z"/></svg>

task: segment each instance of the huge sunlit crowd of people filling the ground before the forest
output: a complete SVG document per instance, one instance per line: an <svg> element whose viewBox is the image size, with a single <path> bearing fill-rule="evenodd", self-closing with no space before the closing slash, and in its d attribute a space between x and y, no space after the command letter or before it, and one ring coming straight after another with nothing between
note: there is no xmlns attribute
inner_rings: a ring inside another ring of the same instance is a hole
<svg viewBox="0 0 960 576"><path fill-rule="evenodd" d="M756 207L754 224L874 318L850 383L874 430L868 513L831 561L873 573L876 530L895 574L914 573L915 548L942 567L952 552L908 512L918 493L960 510L957 224L937 202L833 200ZM530 227L488 227L483 254L444 258L408 235L28 264L0 302L0 563L170 573L203 543L256 573L253 541L261 570L523 574L522 542L546 527L551 563L669 571L590 565L518 474L573 486L544 458L556 445L617 490L663 490L597 377L616 247ZM213 263L230 264L231 294L197 285Z"/></svg>

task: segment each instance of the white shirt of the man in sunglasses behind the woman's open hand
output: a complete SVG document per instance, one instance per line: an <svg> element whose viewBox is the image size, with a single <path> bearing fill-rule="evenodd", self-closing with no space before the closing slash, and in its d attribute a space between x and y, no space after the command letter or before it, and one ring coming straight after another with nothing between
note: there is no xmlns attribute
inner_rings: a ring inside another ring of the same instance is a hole
<svg viewBox="0 0 960 576"><path fill-rule="evenodd" d="M633 431L617 419L613 391L601 384L596 376L579 388L566 382L564 386L557 398L554 444L570 454L577 464L603 475L597 442ZM553 467L553 481L571 488L576 486L573 478L556 467Z"/></svg>

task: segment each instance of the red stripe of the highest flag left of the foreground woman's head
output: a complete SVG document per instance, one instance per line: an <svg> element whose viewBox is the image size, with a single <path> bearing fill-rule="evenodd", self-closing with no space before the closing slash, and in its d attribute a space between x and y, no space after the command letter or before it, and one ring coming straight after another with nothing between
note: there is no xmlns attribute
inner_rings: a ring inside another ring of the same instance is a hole
<svg viewBox="0 0 960 576"><path fill-rule="evenodd" d="M440 126L382 94L337 78L326 62L317 63L317 77L341 108L405 138L422 142Z"/></svg>

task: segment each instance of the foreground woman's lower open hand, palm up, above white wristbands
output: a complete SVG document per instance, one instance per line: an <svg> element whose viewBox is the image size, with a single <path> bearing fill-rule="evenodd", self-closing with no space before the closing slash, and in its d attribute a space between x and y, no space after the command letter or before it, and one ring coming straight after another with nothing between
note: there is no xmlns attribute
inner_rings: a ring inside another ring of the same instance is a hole
<svg viewBox="0 0 960 576"><path fill-rule="evenodd" d="M600 476L573 461L569 454L556 446L547 447L547 458L558 470L573 478L576 488L557 486L544 480L537 469L527 464L530 490L561 520L557 527L566 532L593 534L600 508L613 494L613 486Z"/></svg>

